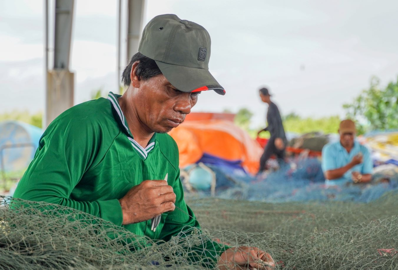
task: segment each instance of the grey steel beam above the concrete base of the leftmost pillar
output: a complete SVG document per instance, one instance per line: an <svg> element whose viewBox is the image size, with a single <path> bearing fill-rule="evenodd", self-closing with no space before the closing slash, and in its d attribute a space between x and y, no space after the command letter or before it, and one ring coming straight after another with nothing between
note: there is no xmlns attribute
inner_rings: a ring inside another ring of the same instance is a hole
<svg viewBox="0 0 398 270"><path fill-rule="evenodd" d="M69 69L74 0L55 0L54 69Z"/></svg>

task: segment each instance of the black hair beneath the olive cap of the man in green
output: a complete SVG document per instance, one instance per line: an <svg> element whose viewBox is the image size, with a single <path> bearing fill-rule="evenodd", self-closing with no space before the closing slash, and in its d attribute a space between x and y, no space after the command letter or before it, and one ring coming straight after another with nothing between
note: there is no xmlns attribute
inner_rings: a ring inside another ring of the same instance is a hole
<svg viewBox="0 0 398 270"><path fill-rule="evenodd" d="M131 84L131 68L133 67L134 62L139 61L137 68L135 69L135 75L140 80L148 80L153 76L158 74L162 74L155 60L146 57L144 54L137 52L131 57L130 63L126 66L122 73L122 83L125 86L129 86Z"/></svg>

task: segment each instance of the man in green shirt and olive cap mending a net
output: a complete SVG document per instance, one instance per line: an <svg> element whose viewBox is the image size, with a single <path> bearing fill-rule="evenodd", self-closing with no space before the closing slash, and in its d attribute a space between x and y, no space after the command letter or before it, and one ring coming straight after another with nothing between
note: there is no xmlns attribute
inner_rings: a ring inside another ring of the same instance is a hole
<svg viewBox="0 0 398 270"><path fill-rule="evenodd" d="M125 93L110 92L57 117L14 197L68 206L151 239L168 241L184 227L200 228L185 204L178 148L166 132L183 122L201 91L225 93L208 70L209 57L202 26L172 14L154 17L123 72ZM208 241L197 249L220 269L275 265L253 247Z"/></svg>

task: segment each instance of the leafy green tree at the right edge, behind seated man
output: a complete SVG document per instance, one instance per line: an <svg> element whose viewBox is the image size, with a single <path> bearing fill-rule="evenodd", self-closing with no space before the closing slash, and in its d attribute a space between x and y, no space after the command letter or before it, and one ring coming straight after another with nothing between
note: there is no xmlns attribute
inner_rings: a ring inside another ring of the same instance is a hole
<svg viewBox="0 0 398 270"><path fill-rule="evenodd" d="M357 122L358 133L398 128L398 80L380 89L380 80L371 79L369 89L363 90L352 103L343 105L347 118Z"/></svg>

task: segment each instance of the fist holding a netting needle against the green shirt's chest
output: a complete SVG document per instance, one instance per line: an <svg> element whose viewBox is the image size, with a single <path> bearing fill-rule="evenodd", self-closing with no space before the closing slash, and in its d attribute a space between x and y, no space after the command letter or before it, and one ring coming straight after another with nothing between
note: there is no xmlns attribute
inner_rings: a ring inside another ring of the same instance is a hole
<svg viewBox="0 0 398 270"><path fill-rule="evenodd" d="M173 211L176 194L164 180L146 180L133 186L119 202L123 212L122 224L127 225Z"/></svg>

